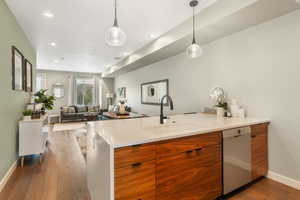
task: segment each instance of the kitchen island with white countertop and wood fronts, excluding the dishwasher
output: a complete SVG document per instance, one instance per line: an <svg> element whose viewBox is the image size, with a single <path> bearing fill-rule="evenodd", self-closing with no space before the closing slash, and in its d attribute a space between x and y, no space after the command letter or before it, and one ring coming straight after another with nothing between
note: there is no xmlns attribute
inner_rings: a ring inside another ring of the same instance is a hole
<svg viewBox="0 0 300 200"><path fill-rule="evenodd" d="M268 168L269 119L193 114L88 123L92 200L213 200L222 195L222 131L250 126L253 180Z"/></svg>

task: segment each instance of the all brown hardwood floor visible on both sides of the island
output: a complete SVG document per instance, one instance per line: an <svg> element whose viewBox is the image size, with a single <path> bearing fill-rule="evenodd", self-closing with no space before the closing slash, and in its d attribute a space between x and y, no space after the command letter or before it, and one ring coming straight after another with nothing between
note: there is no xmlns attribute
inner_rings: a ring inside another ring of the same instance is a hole
<svg viewBox="0 0 300 200"><path fill-rule="evenodd" d="M74 135L50 134L49 150L42 164L38 158L17 168L0 193L0 200L90 200L85 161ZM300 200L300 191L262 179L230 200Z"/></svg>

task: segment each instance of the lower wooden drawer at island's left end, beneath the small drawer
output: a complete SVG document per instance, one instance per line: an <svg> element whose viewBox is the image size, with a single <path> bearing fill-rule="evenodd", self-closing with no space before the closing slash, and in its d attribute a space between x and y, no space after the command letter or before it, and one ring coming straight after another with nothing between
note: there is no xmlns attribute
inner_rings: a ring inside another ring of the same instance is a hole
<svg viewBox="0 0 300 200"><path fill-rule="evenodd" d="M116 200L155 199L155 161L115 169Z"/></svg>

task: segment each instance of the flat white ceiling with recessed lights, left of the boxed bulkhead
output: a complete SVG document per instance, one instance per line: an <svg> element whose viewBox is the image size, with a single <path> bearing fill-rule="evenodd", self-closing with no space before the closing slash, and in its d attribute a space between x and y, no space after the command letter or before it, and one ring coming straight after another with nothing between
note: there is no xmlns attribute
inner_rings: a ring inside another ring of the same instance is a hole
<svg viewBox="0 0 300 200"><path fill-rule="evenodd" d="M197 12L216 1L200 0ZM128 38L113 48L104 42L113 23L113 0L6 2L37 51L37 67L63 71L101 72L118 62L115 57L151 42L151 34L158 37L192 16L189 0L119 0L119 24ZM45 11L54 18L45 18Z"/></svg>

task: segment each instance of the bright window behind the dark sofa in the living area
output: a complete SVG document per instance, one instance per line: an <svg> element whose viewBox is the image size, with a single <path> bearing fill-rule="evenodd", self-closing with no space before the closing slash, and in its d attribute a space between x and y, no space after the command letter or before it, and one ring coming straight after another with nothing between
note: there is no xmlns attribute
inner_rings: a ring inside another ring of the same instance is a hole
<svg viewBox="0 0 300 200"><path fill-rule="evenodd" d="M95 104L95 80L93 78L75 79L75 103L76 105Z"/></svg>

